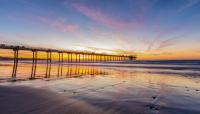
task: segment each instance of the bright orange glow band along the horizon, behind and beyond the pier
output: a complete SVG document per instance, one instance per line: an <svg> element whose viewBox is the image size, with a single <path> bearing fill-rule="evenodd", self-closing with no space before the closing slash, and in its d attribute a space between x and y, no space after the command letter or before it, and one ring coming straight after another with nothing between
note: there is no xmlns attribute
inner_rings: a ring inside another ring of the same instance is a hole
<svg viewBox="0 0 200 114"><path fill-rule="evenodd" d="M113 50L113 53L122 55L136 55L137 60L197 60L200 59L199 50L168 50L168 51L137 51L137 52L125 52L119 50ZM13 57L12 50L0 50L0 57ZM70 56L71 57L71 56ZM70 58L69 57L69 58ZM20 51L19 58L32 58L32 53L30 51ZM38 53L39 59L46 58L45 52ZM52 53L52 58L58 60L58 54ZM68 58L67 54L64 54L64 58ZM76 56L73 54L72 59ZM81 56L82 58L82 56ZM88 58L88 57L86 57Z"/></svg>

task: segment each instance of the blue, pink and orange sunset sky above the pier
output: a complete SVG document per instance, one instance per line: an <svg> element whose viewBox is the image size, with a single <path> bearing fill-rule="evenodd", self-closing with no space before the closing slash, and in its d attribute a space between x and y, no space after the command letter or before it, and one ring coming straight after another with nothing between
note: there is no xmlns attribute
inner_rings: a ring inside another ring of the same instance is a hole
<svg viewBox="0 0 200 114"><path fill-rule="evenodd" d="M0 0L0 43L200 59L200 0Z"/></svg>

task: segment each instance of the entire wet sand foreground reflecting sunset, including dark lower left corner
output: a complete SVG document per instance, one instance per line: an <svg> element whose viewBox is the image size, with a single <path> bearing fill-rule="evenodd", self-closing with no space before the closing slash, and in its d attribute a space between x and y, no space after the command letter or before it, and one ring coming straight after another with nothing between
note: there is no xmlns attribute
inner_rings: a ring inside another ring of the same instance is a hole
<svg viewBox="0 0 200 114"><path fill-rule="evenodd" d="M108 74L1 83L1 114L200 113L199 77L174 70L104 70Z"/></svg>

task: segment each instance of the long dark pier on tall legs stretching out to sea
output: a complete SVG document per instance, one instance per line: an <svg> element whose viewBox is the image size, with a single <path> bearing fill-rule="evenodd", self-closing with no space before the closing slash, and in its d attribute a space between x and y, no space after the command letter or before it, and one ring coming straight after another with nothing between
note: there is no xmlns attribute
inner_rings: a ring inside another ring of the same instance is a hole
<svg viewBox="0 0 200 114"><path fill-rule="evenodd" d="M46 48L32 48L25 46L12 46L1 44L0 49L8 49L14 51L13 57L13 70L12 70L12 80L17 79L17 69L19 63L19 51L31 51L32 52L32 70L30 79L36 78L36 71L38 65L38 52L45 52L46 58L46 73L45 78L50 78L52 70L52 62L58 64L57 76L63 76L63 65L65 63L100 63L100 62L116 62L116 61L131 61L135 59L135 56L127 55L111 55L111 54L101 54L92 52L77 52L68 50L56 50L56 49L46 49ZM52 53L57 53L58 60L53 60ZM65 57L64 57L65 56ZM67 59L67 60L64 60Z"/></svg>

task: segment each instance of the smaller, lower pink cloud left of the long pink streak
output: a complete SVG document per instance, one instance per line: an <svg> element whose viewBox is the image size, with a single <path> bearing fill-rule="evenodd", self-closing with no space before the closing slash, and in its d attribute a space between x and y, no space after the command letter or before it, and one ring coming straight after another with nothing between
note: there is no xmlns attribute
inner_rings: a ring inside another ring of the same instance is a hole
<svg viewBox="0 0 200 114"><path fill-rule="evenodd" d="M38 16L37 19L51 27L61 30L62 32L74 32L79 29L78 25L67 23L64 18L53 20L47 17Z"/></svg>

